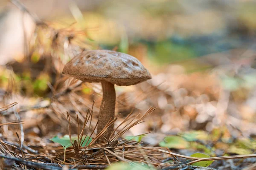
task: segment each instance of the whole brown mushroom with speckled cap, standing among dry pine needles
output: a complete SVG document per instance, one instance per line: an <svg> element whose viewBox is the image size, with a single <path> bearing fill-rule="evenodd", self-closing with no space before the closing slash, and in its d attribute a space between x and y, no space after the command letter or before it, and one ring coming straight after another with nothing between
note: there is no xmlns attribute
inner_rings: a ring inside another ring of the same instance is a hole
<svg viewBox="0 0 256 170"><path fill-rule="evenodd" d="M151 74L138 59L111 50L83 51L65 65L62 74L70 75L84 82L101 82L103 98L100 110L102 117L99 119L97 127L98 134L109 121L113 120L115 115L116 91L114 85L135 85L151 79ZM109 127L104 137L109 139L112 132L113 125Z"/></svg>

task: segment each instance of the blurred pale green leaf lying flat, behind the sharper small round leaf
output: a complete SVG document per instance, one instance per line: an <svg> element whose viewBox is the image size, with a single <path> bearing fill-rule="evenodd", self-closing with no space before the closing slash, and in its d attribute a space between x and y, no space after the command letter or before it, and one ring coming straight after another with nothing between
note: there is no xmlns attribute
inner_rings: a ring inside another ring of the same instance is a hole
<svg viewBox="0 0 256 170"><path fill-rule="evenodd" d="M163 141L159 143L159 145L161 147L185 149L189 147L189 142L180 136L166 136Z"/></svg>

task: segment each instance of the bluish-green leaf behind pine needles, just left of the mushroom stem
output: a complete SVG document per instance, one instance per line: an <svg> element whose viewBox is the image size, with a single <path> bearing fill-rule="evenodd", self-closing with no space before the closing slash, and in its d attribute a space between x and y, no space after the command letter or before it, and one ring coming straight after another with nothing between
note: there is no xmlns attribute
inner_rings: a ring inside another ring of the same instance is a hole
<svg viewBox="0 0 256 170"><path fill-rule="evenodd" d="M84 138L85 138L85 140L84 140ZM72 136L71 139L72 139L72 142L74 142L75 140L78 141L78 140L77 140L77 136ZM62 138L59 138L58 136L54 136L54 137L53 137L52 139L50 139L50 140L53 141L53 142L55 142L55 143L61 144L61 146L63 146L64 149L67 149L68 147L72 146L72 144L71 144L71 142L70 142L70 138L69 138L68 135L63 136ZM84 142L81 144L81 147L84 147L86 143L87 143L87 145L88 145L88 144L90 144L90 142L92 142L92 139L89 138L89 136L86 136L86 137L83 136L82 141L83 141L83 140L84 140ZM88 141L88 142L87 142L87 141Z"/></svg>

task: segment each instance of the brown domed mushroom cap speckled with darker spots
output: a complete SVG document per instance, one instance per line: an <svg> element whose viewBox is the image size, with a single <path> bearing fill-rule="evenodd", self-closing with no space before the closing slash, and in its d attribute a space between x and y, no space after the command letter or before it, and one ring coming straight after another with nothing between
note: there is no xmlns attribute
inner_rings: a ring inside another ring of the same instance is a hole
<svg viewBox="0 0 256 170"><path fill-rule="evenodd" d="M116 85L135 85L151 79L138 59L111 50L84 51L71 59L62 73L85 82L106 81Z"/></svg>

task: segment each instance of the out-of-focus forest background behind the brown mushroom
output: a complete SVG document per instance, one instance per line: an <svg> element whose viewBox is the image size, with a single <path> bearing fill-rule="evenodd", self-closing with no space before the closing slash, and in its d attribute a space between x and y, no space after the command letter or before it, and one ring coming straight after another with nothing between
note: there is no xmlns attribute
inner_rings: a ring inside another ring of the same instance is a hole
<svg viewBox="0 0 256 170"><path fill-rule="evenodd" d="M255 18L255 0L1 0L2 96L15 93L7 101L20 108L35 105L51 94L48 82L61 89L62 68L76 54L111 49L137 57L152 74L116 87L116 113L157 108L131 135L153 130L145 137L151 144L161 134L222 126L227 136L256 135ZM100 88L77 93L99 107Z"/></svg>

